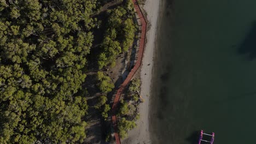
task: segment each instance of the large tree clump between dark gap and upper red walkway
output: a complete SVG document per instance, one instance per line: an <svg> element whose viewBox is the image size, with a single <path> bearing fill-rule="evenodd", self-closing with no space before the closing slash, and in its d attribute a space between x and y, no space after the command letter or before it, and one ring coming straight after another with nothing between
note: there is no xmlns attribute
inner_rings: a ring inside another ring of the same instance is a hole
<svg viewBox="0 0 256 144"><path fill-rule="evenodd" d="M98 68L115 66L115 58L120 52L126 52L132 46L136 27L133 23L132 2L126 1L124 7L108 10L106 32L101 44L102 52L98 56Z"/></svg>

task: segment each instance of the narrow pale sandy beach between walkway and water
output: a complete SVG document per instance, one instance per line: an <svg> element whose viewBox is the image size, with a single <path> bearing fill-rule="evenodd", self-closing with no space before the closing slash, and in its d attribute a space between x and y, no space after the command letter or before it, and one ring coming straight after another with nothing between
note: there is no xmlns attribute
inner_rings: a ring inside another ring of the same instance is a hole
<svg viewBox="0 0 256 144"><path fill-rule="evenodd" d="M145 100L139 105L140 118L136 122L137 127L129 131L129 136L122 143L151 143L149 134L149 98L152 86L153 57L155 52L155 36L158 23L160 0L147 0L144 10L147 12L148 26L147 44L144 50L141 67L141 96Z"/></svg>

